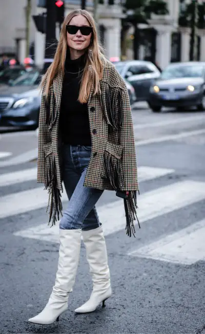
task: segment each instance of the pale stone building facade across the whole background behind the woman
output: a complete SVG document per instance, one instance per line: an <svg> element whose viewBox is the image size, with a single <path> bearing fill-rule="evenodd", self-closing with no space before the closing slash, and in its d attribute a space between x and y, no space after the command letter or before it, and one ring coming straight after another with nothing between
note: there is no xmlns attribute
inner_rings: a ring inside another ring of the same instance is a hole
<svg viewBox="0 0 205 334"><path fill-rule="evenodd" d="M46 0L31 0L31 16L45 12ZM101 32L108 59L121 57L121 18L124 0L100 0L97 23ZM191 0L166 0L169 14L152 15L148 25L139 25L137 52L133 52L133 28L128 31L126 59L146 59L156 62L162 69L170 62L189 61L191 28L180 20L186 4ZM198 0L198 4L203 0ZM0 12L0 56L3 53L17 54L20 62L26 55L26 5L27 0L7 0ZM66 0L65 15L80 8L80 0ZM87 9L93 13L93 0L87 0ZM9 19L8 19L9 18ZM183 17L182 17L183 18ZM195 29L194 59L205 61L205 27ZM59 29L56 25L56 37ZM35 64L43 66L45 58L45 34L37 31L33 19L30 21L30 54Z"/></svg>

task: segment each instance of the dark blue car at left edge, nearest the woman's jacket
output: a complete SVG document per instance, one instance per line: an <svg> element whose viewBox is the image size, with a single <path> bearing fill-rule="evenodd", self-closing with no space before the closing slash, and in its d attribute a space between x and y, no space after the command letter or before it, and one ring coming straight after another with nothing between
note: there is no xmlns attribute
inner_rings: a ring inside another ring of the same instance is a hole
<svg viewBox="0 0 205 334"><path fill-rule="evenodd" d="M0 126L35 129L38 126L41 75L29 72L0 87Z"/></svg>

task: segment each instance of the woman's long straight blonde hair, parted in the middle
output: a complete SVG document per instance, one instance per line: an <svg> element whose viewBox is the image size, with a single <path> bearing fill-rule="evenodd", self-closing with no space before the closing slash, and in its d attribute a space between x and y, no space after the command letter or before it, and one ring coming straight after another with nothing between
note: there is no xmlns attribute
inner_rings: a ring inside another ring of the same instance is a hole
<svg viewBox="0 0 205 334"><path fill-rule="evenodd" d="M45 84L45 95L48 97L49 89L53 82L54 77L57 75L59 71L62 72L63 76L65 74L65 60L66 60L66 52L67 52L67 30L66 25L72 20L72 18L76 15L83 15L87 18L90 26L93 27L92 33L92 44L88 47L88 55L87 61L83 73L83 77L80 84L78 101L80 103L87 103L90 95L90 91L92 85L94 87L93 94L96 95L100 92L99 80L103 76L103 48L101 47L98 36L97 29L95 25L95 21L91 14L87 10L76 9L67 15L64 20L63 26L60 32L60 38L58 42L58 46L55 52L55 57L52 64L49 66L43 80L41 86L43 87Z"/></svg>

